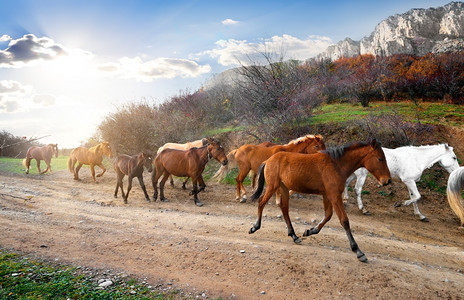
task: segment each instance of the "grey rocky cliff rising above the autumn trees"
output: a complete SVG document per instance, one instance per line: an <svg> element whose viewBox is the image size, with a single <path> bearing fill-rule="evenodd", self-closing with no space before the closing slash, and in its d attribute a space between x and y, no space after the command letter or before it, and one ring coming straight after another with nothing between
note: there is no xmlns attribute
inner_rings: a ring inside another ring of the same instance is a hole
<svg viewBox="0 0 464 300"><path fill-rule="evenodd" d="M335 60L359 54L424 55L429 52L464 50L464 2L443 7L411 9L380 22L371 35L361 41L346 38L317 58Z"/></svg>

